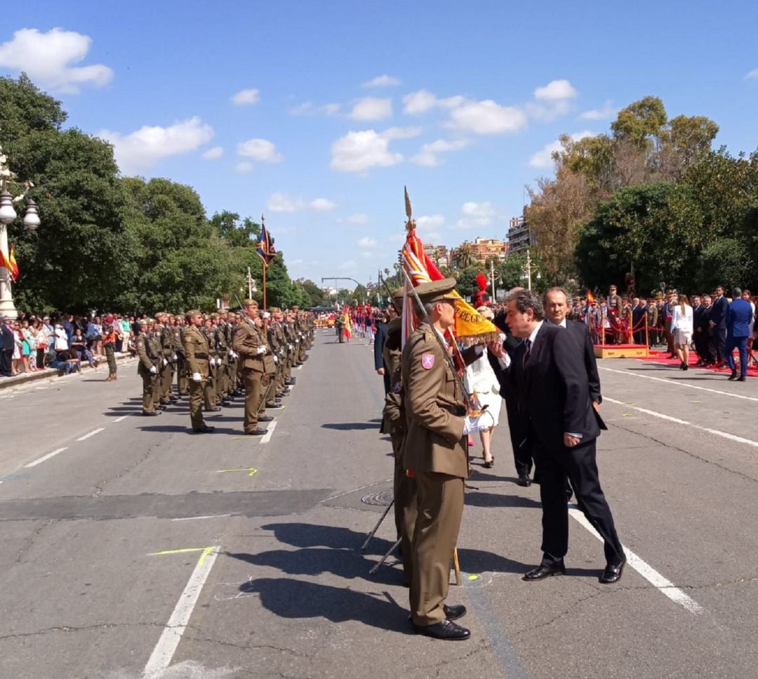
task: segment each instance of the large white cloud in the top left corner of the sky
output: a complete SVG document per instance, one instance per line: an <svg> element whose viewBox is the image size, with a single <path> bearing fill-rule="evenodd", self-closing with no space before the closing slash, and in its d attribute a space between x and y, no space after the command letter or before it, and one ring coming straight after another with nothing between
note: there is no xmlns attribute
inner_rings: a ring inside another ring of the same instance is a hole
<svg viewBox="0 0 758 679"><path fill-rule="evenodd" d="M103 64L72 65L86 57L91 44L89 36L70 30L40 33L36 28L22 28L0 45L0 66L23 71L42 87L76 94L81 85L102 87L113 78L111 68Z"/></svg>

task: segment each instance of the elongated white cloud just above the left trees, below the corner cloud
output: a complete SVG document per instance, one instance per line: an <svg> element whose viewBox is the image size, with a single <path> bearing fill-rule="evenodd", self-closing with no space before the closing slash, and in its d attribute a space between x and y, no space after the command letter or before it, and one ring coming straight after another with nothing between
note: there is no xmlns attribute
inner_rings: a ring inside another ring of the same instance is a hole
<svg viewBox="0 0 758 679"><path fill-rule="evenodd" d="M152 167L161 159L194 151L208 143L213 137L213 128L195 116L169 127L146 125L126 135L100 130L96 137L112 143L121 172L133 174Z"/></svg>

